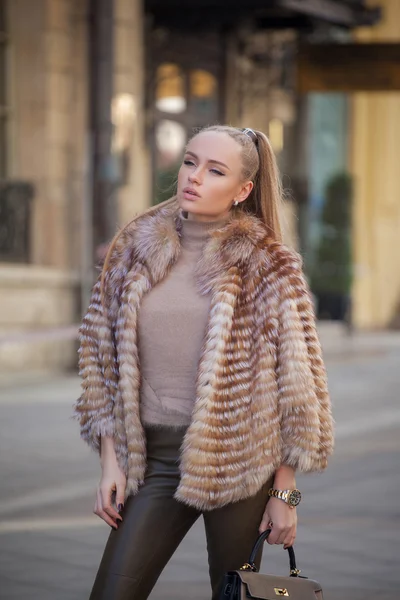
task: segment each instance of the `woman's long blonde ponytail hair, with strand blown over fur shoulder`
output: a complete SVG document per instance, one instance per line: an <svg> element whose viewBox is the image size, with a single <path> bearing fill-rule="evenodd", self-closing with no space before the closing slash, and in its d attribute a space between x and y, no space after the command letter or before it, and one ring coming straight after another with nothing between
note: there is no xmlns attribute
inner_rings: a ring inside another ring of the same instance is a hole
<svg viewBox="0 0 400 600"><path fill-rule="evenodd" d="M253 140L244 130L230 127L228 125L212 125L198 131L193 137L207 131L217 131L225 133L234 139L242 147L242 179L243 181L253 181L254 186L250 195L244 202L234 207L235 212L245 212L258 217L267 228L269 236L277 242L282 241L282 230L279 214L283 198L282 185L279 176L278 165L274 151L267 136L261 131L254 131L256 140ZM193 139L192 137L192 139ZM115 244L120 235L136 219L144 214L153 214L161 206L168 206L176 201L173 196L169 200L152 206L146 211L136 215L121 231L119 231L111 241L106 257L104 259L101 274L101 298L103 299L105 274L108 269L110 258Z"/></svg>

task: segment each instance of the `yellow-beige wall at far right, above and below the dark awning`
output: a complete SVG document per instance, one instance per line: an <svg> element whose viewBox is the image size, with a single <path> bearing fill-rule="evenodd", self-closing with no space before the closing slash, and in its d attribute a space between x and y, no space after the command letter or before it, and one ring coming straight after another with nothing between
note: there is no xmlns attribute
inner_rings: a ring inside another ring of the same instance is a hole
<svg viewBox="0 0 400 600"><path fill-rule="evenodd" d="M400 43L400 2L381 0L384 18L357 38ZM354 319L386 327L400 312L400 93L358 93L352 99Z"/></svg>

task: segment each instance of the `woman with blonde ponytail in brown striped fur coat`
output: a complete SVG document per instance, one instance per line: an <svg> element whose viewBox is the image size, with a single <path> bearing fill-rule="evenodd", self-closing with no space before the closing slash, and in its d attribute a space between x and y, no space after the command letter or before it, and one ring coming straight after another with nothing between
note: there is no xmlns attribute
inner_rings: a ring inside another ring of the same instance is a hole
<svg viewBox="0 0 400 600"><path fill-rule="evenodd" d="M176 197L111 244L81 327L76 405L100 452L94 512L113 528L92 600L148 598L200 514L213 600L258 532L295 540L295 471L324 469L333 437L280 201L266 136L209 127L186 148Z"/></svg>

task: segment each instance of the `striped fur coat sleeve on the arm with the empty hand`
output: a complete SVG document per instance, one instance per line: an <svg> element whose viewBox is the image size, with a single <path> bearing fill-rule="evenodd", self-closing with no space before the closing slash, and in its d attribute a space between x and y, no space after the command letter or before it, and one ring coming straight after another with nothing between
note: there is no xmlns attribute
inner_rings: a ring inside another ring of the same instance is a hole
<svg viewBox="0 0 400 600"><path fill-rule="evenodd" d="M114 394L118 381L112 327L101 304L100 277L79 328L82 394L75 404L82 438L100 451L101 436L114 435Z"/></svg>

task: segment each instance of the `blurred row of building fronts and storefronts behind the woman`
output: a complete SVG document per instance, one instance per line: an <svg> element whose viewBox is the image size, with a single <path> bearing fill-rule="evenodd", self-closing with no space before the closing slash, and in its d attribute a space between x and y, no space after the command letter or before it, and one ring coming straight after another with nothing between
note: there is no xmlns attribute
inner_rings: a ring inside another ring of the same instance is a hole
<svg viewBox="0 0 400 600"><path fill-rule="evenodd" d="M97 250L216 122L269 135L320 316L397 326L399 48L397 0L0 0L1 368L74 364Z"/></svg>

